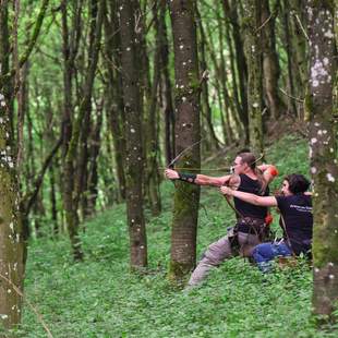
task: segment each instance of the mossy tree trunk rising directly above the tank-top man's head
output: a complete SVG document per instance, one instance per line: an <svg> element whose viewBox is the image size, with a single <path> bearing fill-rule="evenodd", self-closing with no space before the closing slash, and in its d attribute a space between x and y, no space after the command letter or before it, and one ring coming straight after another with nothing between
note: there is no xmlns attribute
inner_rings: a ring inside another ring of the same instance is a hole
<svg viewBox="0 0 338 338"><path fill-rule="evenodd" d="M243 2L243 28L245 34L245 52L248 60L248 110L250 146L253 153L263 153L263 123L262 123L262 46L261 17L262 2L245 0Z"/></svg>

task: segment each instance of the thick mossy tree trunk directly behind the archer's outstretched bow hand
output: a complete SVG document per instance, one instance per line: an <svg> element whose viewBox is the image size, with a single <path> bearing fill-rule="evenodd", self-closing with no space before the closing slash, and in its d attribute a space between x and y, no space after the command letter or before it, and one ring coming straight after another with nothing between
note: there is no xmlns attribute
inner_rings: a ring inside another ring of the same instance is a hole
<svg viewBox="0 0 338 338"><path fill-rule="evenodd" d="M174 48L176 74L176 153L200 140L198 59L193 0L169 2ZM192 147L177 161L180 167L200 168L200 146ZM174 192L171 230L171 261L169 278L180 281L196 259L196 228L200 188L178 182Z"/></svg>

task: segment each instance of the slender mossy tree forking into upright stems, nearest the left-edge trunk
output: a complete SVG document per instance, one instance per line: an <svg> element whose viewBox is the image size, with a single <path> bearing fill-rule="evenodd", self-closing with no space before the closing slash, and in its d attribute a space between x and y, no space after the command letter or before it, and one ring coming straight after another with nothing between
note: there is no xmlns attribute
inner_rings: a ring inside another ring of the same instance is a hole
<svg viewBox="0 0 338 338"><path fill-rule="evenodd" d="M80 32L80 19L81 19L81 7L75 5L74 14L74 28L75 34ZM64 207L65 207L65 218L68 224L68 230L70 234L70 240L72 243L74 259L81 261L83 258L83 253L81 250L81 241L79 238L79 203L81 198L81 184L83 181L83 176L86 166L86 145L81 144L82 132L86 133L86 121L88 121L88 114L92 108L92 93L95 80L95 73L97 69L99 49L100 49L100 38L101 38L101 26L104 21L105 11L105 0L93 0L89 2L90 11L90 29L89 29L89 48L88 48L88 64L86 65L86 74L84 76L83 87L81 88L82 99L80 100L79 113L76 118L72 119L72 64L74 62L74 57L76 55L76 41L79 41L79 36L75 35L71 41L69 41L69 28L68 28L68 17L67 17L67 3L63 3L63 55L65 61L64 68L64 136L67 140L65 154L64 154L64 171L68 177L64 180ZM97 9L96 9L97 8ZM73 32L72 32L73 34ZM71 51L71 53L70 53ZM79 89L77 89L79 90ZM72 120L70 120L72 119ZM71 124L69 124L71 121ZM71 128L71 130L70 130ZM79 160L77 165L81 167L81 171L74 174L75 161Z"/></svg>

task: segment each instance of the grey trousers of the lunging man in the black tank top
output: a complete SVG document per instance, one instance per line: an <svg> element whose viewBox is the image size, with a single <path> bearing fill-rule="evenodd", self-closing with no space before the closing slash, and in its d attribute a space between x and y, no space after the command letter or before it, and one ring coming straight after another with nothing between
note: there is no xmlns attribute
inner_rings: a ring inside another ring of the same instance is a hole
<svg viewBox="0 0 338 338"><path fill-rule="evenodd" d="M238 232L238 241L240 244L240 254L244 257L251 256L254 246L261 243L258 236L245 232ZM229 236L222 237L208 246L203 258L192 273L188 285L198 285L212 268L237 254L238 253L233 252L231 249Z"/></svg>

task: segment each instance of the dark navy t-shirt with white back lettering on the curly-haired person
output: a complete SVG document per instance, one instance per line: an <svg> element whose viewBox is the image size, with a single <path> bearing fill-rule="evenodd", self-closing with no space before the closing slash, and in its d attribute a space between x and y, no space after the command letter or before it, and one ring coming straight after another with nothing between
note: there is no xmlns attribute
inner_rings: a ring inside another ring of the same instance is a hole
<svg viewBox="0 0 338 338"><path fill-rule="evenodd" d="M285 239L290 240L291 249L299 255L311 250L312 243L312 198L310 195L297 194L276 196L278 208L285 220Z"/></svg>

